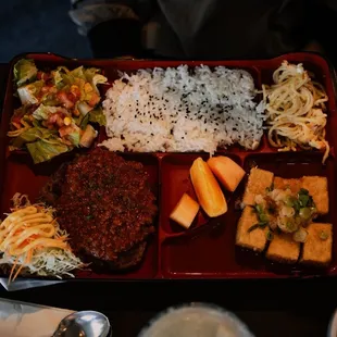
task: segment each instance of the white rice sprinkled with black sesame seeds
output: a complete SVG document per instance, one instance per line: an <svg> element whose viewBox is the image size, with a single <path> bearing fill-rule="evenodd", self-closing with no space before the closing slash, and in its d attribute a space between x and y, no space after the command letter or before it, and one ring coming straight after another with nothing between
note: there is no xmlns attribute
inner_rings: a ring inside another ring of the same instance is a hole
<svg viewBox="0 0 337 337"><path fill-rule="evenodd" d="M242 70L187 65L122 74L103 110L111 151L214 153L239 143L258 147L264 108L253 101L252 76Z"/></svg>

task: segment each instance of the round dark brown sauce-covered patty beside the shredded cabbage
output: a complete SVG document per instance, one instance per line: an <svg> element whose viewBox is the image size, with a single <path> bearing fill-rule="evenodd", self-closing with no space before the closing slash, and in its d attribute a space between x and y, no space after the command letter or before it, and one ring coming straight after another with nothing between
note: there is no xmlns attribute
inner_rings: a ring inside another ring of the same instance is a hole
<svg viewBox="0 0 337 337"><path fill-rule="evenodd" d="M157 214L141 163L97 148L61 167L41 197L57 209L75 252L117 270L140 262Z"/></svg>

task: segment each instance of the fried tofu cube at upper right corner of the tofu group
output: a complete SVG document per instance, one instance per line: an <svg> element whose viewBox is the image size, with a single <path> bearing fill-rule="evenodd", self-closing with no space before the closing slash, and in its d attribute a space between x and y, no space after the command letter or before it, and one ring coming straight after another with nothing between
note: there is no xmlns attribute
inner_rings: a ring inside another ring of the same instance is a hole
<svg viewBox="0 0 337 337"><path fill-rule="evenodd" d="M309 195L316 205L319 214L328 213L327 178L320 176L304 176L301 186L309 190Z"/></svg>

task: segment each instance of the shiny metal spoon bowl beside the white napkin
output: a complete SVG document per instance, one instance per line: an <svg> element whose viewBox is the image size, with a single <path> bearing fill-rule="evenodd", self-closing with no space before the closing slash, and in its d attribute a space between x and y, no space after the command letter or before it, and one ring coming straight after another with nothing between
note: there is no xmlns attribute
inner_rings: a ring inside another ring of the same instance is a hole
<svg viewBox="0 0 337 337"><path fill-rule="evenodd" d="M52 337L109 337L107 316L97 311L77 311L64 317Z"/></svg>

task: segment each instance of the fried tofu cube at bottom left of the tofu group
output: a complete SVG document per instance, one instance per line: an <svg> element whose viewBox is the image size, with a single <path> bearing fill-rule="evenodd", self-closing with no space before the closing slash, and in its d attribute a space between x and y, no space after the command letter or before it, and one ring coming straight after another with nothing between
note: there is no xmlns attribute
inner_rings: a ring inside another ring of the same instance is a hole
<svg viewBox="0 0 337 337"><path fill-rule="evenodd" d="M255 228L249 232L249 228L258 224L258 215L253 208L247 205L244 209L238 222L236 232L236 245L249 248L255 251L263 251L266 245L266 228Z"/></svg>

